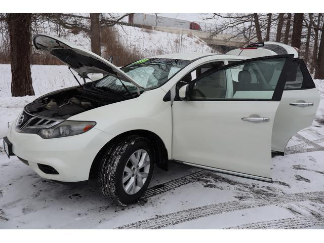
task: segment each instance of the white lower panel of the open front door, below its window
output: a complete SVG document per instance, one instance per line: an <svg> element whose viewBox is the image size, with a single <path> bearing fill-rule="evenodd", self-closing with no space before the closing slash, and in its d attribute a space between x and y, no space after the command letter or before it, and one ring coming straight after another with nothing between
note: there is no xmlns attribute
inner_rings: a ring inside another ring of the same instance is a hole
<svg viewBox="0 0 324 243"><path fill-rule="evenodd" d="M175 101L172 158L271 178L271 133L278 105L275 101ZM253 114L270 121L241 119Z"/></svg>

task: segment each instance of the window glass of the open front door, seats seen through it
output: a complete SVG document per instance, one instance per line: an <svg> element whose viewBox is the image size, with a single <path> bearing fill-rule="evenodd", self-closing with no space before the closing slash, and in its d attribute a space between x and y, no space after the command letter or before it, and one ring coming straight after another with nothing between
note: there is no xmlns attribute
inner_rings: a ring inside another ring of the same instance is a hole
<svg viewBox="0 0 324 243"><path fill-rule="evenodd" d="M285 62L286 57L261 59L207 73L191 85L190 99L271 100Z"/></svg>

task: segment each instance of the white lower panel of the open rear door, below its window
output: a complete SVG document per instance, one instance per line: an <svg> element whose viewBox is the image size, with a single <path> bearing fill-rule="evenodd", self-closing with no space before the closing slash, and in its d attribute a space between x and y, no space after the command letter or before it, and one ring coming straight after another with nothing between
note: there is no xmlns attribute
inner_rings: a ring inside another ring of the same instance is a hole
<svg viewBox="0 0 324 243"><path fill-rule="evenodd" d="M312 125L319 100L320 96L316 88L284 91L274 119L271 148L273 151L284 152L292 136ZM306 102L313 105L290 105Z"/></svg>

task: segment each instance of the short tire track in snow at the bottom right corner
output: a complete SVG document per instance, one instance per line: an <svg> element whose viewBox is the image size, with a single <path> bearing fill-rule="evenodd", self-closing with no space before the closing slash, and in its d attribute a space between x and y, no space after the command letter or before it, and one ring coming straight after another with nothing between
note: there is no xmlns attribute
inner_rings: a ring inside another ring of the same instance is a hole
<svg viewBox="0 0 324 243"><path fill-rule="evenodd" d="M324 226L324 218L317 219L314 217L296 217L287 219L277 219L242 224L226 229L306 229L314 226Z"/></svg>

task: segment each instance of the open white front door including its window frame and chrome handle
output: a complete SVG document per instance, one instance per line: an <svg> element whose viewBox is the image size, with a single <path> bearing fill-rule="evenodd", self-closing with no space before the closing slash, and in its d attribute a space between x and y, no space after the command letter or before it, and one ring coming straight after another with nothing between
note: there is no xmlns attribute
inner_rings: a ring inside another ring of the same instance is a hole
<svg viewBox="0 0 324 243"><path fill-rule="evenodd" d="M173 102L172 159L271 180L273 122L291 61L287 55L249 59L193 80L189 101ZM269 84L273 68L278 73Z"/></svg>

